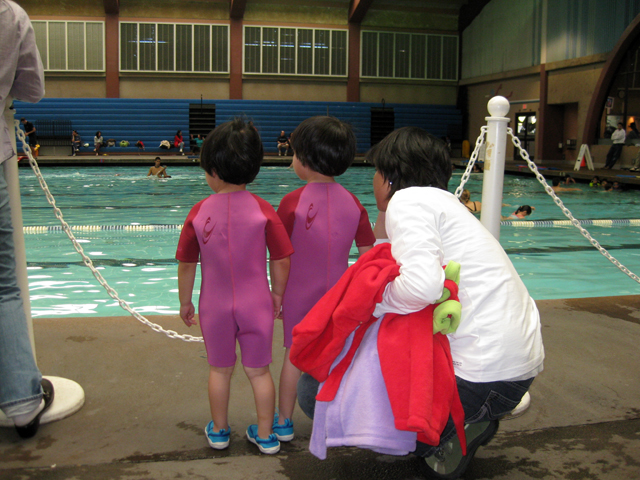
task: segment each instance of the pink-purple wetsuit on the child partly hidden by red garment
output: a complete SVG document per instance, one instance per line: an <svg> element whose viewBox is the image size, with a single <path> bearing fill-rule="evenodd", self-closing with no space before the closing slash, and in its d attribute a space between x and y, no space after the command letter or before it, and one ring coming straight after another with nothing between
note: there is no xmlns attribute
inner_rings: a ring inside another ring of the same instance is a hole
<svg viewBox="0 0 640 480"><path fill-rule="evenodd" d="M349 266L349 250L373 245L369 215L338 183L309 183L284 196L278 215L291 237L289 281L282 305L284 346L291 332Z"/></svg>

